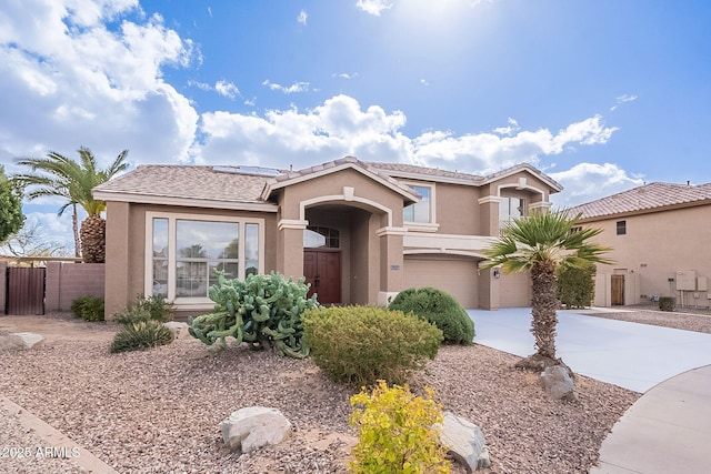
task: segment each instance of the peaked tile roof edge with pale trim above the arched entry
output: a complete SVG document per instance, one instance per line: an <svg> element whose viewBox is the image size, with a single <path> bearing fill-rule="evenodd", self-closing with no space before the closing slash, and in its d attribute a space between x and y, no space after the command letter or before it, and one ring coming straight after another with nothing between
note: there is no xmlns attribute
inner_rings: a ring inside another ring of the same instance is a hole
<svg viewBox="0 0 711 474"><path fill-rule="evenodd" d="M299 171L290 171L278 177L267 180L267 184L261 193L261 199L267 201L271 194L291 184L297 184L303 181L309 181L316 178L324 177L341 170L356 170L365 177L379 182L385 188L390 188L392 191L401 194L408 201L417 202L420 200L420 195L414 192L410 186L400 183L394 178L379 171L371 167L369 163L362 162L353 157L341 158L340 160L330 161L328 163L319 164L311 168L304 168Z"/></svg>

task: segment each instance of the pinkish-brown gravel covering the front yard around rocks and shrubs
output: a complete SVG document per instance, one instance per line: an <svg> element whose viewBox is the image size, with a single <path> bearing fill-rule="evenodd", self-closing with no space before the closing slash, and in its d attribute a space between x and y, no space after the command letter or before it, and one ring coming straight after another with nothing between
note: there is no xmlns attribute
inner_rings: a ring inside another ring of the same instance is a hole
<svg viewBox="0 0 711 474"><path fill-rule="evenodd" d="M615 314L629 320L633 313ZM663 316L680 321L675 313ZM711 317L705 320L711 330ZM81 331L88 323L76 324ZM99 323L92 326L93 335L104 336L93 341L63 337L3 354L0 394L121 473L348 472L356 443L348 426L353 392L323 377L312 361L244 349L213 356L194 340L109 354L117 329ZM444 410L483 430L492 461L485 472L588 472L602 440L640 394L577 376L578 403L551 401L537 375L512 369L517 360L481 345L443 346L427 373L410 385L415 392L425 385L434 389ZM281 410L293 424L293 435L250 455L226 450L220 422L253 405ZM3 416L0 433L9 434L0 447L34 445L37 440L18 437L31 433L18 430L11 416ZM58 470L48 464L61 460L46 461L0 458L0 472L79 472L68 464Z"/></svg>

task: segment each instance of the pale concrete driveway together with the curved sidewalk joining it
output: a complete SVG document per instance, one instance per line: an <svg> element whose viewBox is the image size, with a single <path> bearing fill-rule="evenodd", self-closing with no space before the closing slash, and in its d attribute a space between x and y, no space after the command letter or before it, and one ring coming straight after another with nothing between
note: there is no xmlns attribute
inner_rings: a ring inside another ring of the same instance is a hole
<svg viewBox="0 0 711 474"><path fill-rule="evenodd" d="M534 352L530 309L468 313L475 343ZM575 373L643 393L602 442L590 474L710 473L711 334L574 311L558 316L558 355Z"/></svg>

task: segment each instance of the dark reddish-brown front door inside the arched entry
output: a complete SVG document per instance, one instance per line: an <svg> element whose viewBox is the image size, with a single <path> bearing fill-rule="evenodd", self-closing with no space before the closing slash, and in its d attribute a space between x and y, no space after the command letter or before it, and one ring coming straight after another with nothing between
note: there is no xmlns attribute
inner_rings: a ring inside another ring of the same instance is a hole
<svg viewBox="0 0 711 474"><path fill-rule="evenodd" d="M309 296L317 293L321 304L341 302L341 253L318 250L303 251L303 275L311 284Z"/></svg>

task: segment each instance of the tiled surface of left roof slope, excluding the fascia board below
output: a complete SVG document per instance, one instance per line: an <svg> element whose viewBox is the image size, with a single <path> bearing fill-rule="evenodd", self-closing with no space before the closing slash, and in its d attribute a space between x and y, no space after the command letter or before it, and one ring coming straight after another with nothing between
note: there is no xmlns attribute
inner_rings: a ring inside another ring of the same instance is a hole
<svg viewBox="0 0 711 474"><path fill-rule="evenodd" d="M216 168L227 170L229 167ZM266 182L267 177L263 175L216 171L213 167L148 164L100 184L94 191L157 198L262 202L259 195Z"/></svg>

